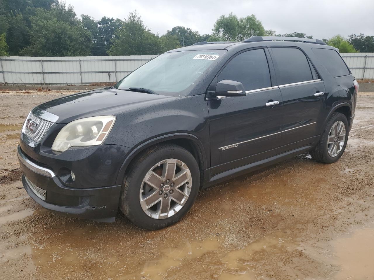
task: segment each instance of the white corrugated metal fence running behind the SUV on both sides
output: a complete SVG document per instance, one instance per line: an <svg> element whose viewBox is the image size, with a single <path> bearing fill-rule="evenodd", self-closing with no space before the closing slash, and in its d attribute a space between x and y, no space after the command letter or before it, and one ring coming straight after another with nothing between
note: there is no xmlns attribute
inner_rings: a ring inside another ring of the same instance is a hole
<svg viewBox="0 0 374 280"><path fill-rule="evenodd" d="M374 53L342 53L356 79L374 79ZM0 56L0 83L91 84L116 82L156 55L27 57Z"/></svg>

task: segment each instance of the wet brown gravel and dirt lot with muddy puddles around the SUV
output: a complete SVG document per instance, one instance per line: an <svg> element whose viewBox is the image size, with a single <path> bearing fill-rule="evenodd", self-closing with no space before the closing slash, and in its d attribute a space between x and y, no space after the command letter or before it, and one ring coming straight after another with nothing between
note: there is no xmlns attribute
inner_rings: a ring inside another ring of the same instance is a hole
<svg viewBox="0 0 374 280"><path fill-rule="evenodd" d="M335 164L308 154L204 190L178 224L136 228L53 214L16 159L35 105L68 92L0 93L0 279L374 279L374 93L359 94Z"/></svg>

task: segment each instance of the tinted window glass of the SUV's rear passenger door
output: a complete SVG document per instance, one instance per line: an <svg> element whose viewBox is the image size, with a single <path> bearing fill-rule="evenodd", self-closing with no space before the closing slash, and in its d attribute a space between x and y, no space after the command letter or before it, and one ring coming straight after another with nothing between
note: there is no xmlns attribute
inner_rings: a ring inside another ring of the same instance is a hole
<svg viewBox="0 0 374 280"><path fill-rule="evenodd" d="M314 80L308 59L294 48L272 48L272 57L278 65L278 85Z"/></svg>

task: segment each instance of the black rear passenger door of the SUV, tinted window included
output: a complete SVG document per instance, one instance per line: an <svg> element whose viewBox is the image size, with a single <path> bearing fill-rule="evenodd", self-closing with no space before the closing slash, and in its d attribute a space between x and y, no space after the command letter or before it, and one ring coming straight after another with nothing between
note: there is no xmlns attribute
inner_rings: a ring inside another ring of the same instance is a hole
<svg viewBox="0 0 374 280"><path fill-rule="evenodd" d="M325 86L304 52L272 47L270 53L283 99L282 137L278 153L313 143L323 121Z"/></svg>

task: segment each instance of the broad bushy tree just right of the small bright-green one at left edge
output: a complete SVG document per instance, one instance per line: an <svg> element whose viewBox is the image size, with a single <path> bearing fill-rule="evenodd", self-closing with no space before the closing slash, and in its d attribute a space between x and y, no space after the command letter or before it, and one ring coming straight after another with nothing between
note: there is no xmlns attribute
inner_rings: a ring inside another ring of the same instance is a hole
<svg viewBox="0 0 374 280"><path fill-rule="evenodd" d="M91 33L82 22L72 17L71 10L52 7L50 11L38 8L31 16L30 46L20 54L28 56L88 56ZM75 14L74 14L75 15ZM74 23L74 24L71 24Z"/></svg>

